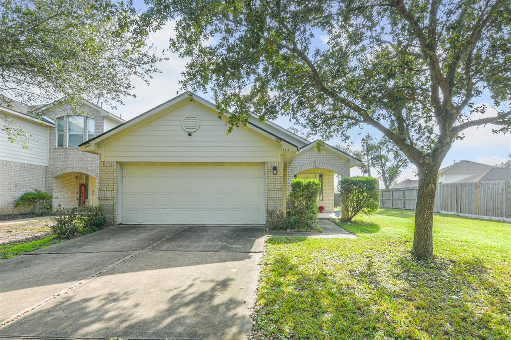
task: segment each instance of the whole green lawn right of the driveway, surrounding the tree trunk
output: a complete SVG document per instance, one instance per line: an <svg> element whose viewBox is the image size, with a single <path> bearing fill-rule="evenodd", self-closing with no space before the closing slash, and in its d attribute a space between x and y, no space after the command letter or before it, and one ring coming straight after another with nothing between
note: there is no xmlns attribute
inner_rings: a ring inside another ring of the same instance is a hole
<svg viewBox="0 0 511 340"><path fill-rule="evenodd" d="M413 211L339 225L358 238L267 241L253 338L511 338L511 224L435 214L431 261Z"/></svg>

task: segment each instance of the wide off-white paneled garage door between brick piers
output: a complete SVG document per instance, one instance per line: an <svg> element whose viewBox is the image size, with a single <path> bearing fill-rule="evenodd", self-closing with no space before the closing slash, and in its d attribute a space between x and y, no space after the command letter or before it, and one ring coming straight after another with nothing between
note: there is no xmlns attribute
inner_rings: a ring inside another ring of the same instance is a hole
<svg viewBox="0 0 511 340"><path fill-rule="evenodd" d="M262 163L125 163L122 219L134 224L264 224Z"/></svg>

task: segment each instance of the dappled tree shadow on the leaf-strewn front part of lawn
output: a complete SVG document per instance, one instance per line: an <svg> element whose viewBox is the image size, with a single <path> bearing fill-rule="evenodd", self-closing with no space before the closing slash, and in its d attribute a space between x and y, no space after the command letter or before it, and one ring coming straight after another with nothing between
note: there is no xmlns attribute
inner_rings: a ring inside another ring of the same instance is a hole
<svg viewBox="0 0 511 340"><path fill-rule="evenodd" d="M509 285L499 286L477 259L414 261L404 252L337 255L307 253L307 261L298 261L282 252L267 259L272 269L263 272L254 338L511 335Z"/></svg>

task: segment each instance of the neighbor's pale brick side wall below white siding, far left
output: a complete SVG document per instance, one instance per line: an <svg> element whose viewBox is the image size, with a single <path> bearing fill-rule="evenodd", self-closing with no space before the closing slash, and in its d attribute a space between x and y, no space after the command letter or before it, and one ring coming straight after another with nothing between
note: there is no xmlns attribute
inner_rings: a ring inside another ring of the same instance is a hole
<svg viewBox="0 0 511 340"><path fill-rule="evenodd" d="M45 166L0 159L0 215L22 213L30 208L14 208L14 201L33 189L44 190Z"/></svg>

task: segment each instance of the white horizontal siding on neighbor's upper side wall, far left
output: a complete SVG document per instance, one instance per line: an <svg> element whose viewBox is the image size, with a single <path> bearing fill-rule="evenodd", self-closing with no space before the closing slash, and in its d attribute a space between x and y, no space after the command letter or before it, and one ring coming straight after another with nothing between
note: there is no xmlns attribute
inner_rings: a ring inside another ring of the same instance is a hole
<svg viewBox="0 0 511 340"><path fill-rule="evenodd" d="M30 131L32 139L28 143L29 149L23 149L20 143L12 143L7 134L0 132L0 159L36 164L48 165L49 127L38 122L10 116L14 123L25 131Z"/></svg>

